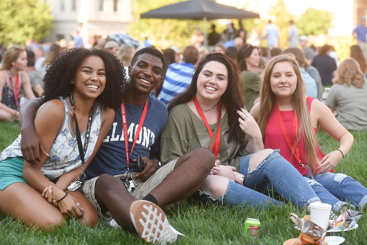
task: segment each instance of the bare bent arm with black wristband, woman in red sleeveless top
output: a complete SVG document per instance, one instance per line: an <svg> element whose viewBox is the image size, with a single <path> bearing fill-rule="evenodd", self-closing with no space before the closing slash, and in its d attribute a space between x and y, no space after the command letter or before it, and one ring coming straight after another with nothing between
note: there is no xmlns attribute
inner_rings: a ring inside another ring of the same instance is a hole
<svg viewBox="0 0 367 245"><path fill-rule="evenodd" d="M353 144L353 136L346 130L335 118L330 109L321 101L313 100L311 104L311 120L315 126L321 126L328 134L333 136L335 140L340 142L338 148L346 155ZM315 125L316 124L316 125ZM343 158L341 152L335 149L321 159L321 165L317 169L321 169L319 173L326 173L333 169Z"/></svg>

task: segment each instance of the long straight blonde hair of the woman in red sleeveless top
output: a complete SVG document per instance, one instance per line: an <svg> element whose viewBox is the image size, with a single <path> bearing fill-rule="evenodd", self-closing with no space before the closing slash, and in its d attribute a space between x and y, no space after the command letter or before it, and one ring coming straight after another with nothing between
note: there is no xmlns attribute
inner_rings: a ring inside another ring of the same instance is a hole
<svg viewBox="0 0 367 245"><path fill-rule="evenodd" d="M297 131L295 143L298 143L303 137L305 144L305 156L307 165L312 170L312 173L316 172L317 166L319 166L319 159L316 153L316 135L311 123L310 113L308 111L308 105L306 102L306 85L301 76L298 62L293 54L282 54L275 56L269 60L265 66L264 73L262 75L262 83L260 87L260 107L258 116L258 125L261 130L261 134L264 141L265 127L269 121L270 114L275 108L276 97L270 86L270 76L273 67L278 62L289 62L297 76L297 87L294 91L292 104L294 105L294 111L296 117L299 118L300 125ZM295 145L295 144L294 144ZM293 147L294 148L294 147ZM321 159L320 159L321 160ZM306 163L304 163L306 164Z"/></svg>

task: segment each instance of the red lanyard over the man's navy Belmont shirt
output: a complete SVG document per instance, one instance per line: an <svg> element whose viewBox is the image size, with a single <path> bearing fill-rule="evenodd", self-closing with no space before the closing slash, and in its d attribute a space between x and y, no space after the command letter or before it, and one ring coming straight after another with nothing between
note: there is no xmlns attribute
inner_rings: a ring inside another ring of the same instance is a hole
<svg viewBox="0 0 367 245"><path fill-rule="evenodd" d="M143 113L142 113L140 121L139 121L138 130L135 133L134 141L132 142L131 152L130 152L130 155L129 155L129 142L128 142L128 137L127 137L127 119L126 119L125 102L122 101L122 103L121 103L121 117L122 117L122 125L123 125L123 130L124 130L127 172L129 172L129 159L130 159L132 150L134 149L135 143L138 140L140 131L143 127L143 123L144 123L144 120L145 120L146 109L147 108L148 108L148 99L146 99L145 106L144 106L144 109L143 109Z"/></svg>

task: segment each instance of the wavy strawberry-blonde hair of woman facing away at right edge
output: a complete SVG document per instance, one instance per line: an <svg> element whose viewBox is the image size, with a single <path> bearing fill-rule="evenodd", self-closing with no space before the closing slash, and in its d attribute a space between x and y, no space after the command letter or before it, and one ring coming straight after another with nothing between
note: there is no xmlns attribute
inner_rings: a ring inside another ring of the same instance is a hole
<svg viewBox="0 0 367 245"><path fill-rule="evenodd" d="M333 83L346 84L348 87L352 84L357 88L362 88L364 86L364 76L358 62L353 58L341 62Z"/></svg>

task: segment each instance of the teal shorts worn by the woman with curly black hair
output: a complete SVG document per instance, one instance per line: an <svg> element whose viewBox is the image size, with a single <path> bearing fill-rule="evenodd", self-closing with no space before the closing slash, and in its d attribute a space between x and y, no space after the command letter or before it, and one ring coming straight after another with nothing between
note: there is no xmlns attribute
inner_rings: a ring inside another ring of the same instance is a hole
<svg viewBox="0 0 367 245"><path fill-rule="evenodd" d="M3 191L8 185L17 182L27 183L23 179L22 156L10 157L0 162L0 190Z"/></svg>

